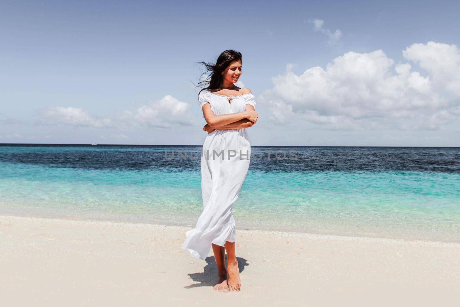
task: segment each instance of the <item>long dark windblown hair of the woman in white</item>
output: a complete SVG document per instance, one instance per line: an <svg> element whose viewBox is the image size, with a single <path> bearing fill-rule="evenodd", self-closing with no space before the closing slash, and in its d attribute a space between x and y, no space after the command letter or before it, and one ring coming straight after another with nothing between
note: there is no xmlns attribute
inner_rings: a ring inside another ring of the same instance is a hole
<svg viewBox="0 0 460 307"><path fill-rule="evenodd" d="M217 58L216 64L198 62L197 64L203 64L206 68L206 71L201 74L201 77L205 74L209 74L209 75L206 77L206 79L198 82L198 85L196 87L201 87L201 91L205 89L219 88L220 85L222 84L222 80L224 80L224 77L222 76L222 72L228 67L228 65L230 65L231 62L238 61L238 60L240 60L241 63L243 63L241 53L235 50L229 49L229 50L225 50L219 55L219 58Z"/></svg>

